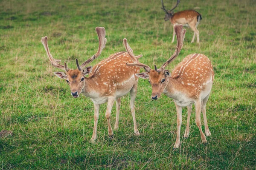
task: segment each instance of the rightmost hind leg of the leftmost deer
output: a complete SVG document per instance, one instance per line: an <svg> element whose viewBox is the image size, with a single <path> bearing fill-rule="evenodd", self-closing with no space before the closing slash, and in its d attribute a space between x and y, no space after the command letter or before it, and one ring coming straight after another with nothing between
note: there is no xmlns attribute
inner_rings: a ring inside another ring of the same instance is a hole
<svg viewBox="0 0 256 170"><path fill-rule="evenodd" d="M134 106L135 98L136 98L136 95L137 95L137 87L138 87L138 85L136 84L131 88L131 91L130 91L130 95L131 95L130 107L131 107L132 119L133 119L133 122L134 122L134 133L135 133L136 136L140 136L140 132L137 128L137 123L136 123L136 118L135 118L135 106Z"/></svg>

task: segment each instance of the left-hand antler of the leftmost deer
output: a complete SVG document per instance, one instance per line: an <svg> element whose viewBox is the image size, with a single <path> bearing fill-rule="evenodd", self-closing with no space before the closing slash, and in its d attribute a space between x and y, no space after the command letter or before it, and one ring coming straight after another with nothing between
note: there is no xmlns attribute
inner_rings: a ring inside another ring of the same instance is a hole
<svg viewBox="0 0 256 170"><path fill-rule="evenodd" d="M49 57L49 60L50 60L50 62L51 62L51 65L52 65L53 67L60 68L60 69L65 70L65 71L69 71L69 68L67 67L67 65L66 65L66 67L65 67L64 65L61 65L61 64L58 63L58 62L61 62L61 60L59 60L59 59L54 59L54 58L52 57L52 55L51 55L51 53L50 53L50 50L49 50L49 47L48 47L48 44L47 44L47 39L48 39L47 36L42 37L42 38L41 38L41 42L42 42L42 44L44 45L44 49L45 49L45 51L46 51L46 53L47 53L47 56Z"/></svg>

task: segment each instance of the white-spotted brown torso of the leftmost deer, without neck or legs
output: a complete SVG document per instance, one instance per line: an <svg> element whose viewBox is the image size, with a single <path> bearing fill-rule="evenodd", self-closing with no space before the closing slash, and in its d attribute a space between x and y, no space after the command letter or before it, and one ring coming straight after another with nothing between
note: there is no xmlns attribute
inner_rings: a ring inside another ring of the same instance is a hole
<svg viewBox="0 0 256 170"><path fill-rule="evenodd" d="M96 88L102 92L102 95L103 93L113 95L116 91L129 91L133 87L138 79L135 74L140 72L140 68L127 66L126 62L131 62L128 53L118 52L93 67L89 78L95 80Z"/></svg>

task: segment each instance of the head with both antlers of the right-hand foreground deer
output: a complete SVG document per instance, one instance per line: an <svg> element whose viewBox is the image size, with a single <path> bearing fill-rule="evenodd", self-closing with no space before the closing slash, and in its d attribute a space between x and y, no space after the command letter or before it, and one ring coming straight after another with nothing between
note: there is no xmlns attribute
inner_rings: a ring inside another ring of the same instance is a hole
<svg viewBox="0 0 256 170"><path fill-rule="evenodd" d="M170 62L172 62L179 55L180 50L183 46L183 40L185 38L186 29L183 29L182 25L177 25L174 28L175 28L175 34L177 37L176 50L174 54L172 54L172 57L170 57L166 62L164 62L159 69L157 69L157 66L154 65L154 70L153 70L148 65L145 65L139 62L136 56L134 56L131 47L128 45L127 40L126 39L123 40L125 49L133 61L133 63L126 63L126 65L137 66L145 69L146 72L138 73L136 74L136 76L143 79L149 79L148 82L152 86L152 95L151 95L152 99L159 99L160 95L163 93L164 89L168 85L169 77L171 77L171 73L165 68L167 65L169 65Z"/></svg>

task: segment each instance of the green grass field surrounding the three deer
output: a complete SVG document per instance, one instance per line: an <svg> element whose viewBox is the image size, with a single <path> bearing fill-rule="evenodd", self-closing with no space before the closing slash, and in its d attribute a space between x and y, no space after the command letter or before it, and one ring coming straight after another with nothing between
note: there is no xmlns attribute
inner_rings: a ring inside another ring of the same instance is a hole
<svg viewBox="0 0 256 170"><path fill-rule="evenodd" d="M171 8L175 0L165 0ZM129 96L122 98L119 130L108 138L106 105L101 105L98 139L91 144L93 102L74 99L64 80L54 76L41 37L55 59L76 68L98 45L96 26L106 28L108 42L95 65L125 51L127 38L141 62L158 67L175 51L172 27L160 0L0 0L0 138L2 169L256 169L256 3L254 0L181 0L175 11L195 9L200 46L190 43L167 69L192 53L212 61L215 80L207 103L212 136L201 144L191 116L188 139L173 150L176 110L172 99L152 101L151 86L140 79L135 102L140 136L133 134ZM114 126L115 105L111 124ZM181 136L186 128L183 109ZM203 119L201 118L202 125ZM203 126L204 131L204 126Z"/></svg>

